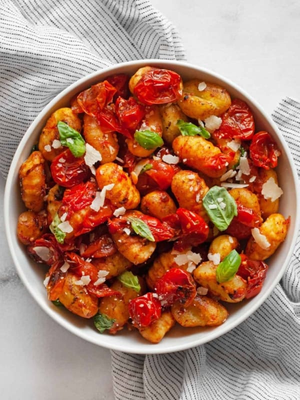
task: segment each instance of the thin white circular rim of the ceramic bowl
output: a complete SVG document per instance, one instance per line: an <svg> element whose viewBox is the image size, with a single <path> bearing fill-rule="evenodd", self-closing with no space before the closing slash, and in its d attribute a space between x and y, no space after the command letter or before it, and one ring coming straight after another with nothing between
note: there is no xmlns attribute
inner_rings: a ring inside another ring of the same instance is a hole
<svg viewBox="0 0 300 400"><path fill-rule="evenodd" d="M206 68L203 68L201 66L186 62L186 61L176 61L176 60L168 60L168 59L141 59L141 60L132 60L132 61L126 61L126 62L121 62L121 63L117 63L117 64L112 64L108 67L102 68L102 69L98 69L96 71L93 71L91 73L89 73L86 76L81 77L80 79L76 80L75 82L71 83L70 85L68 85L66 88L64 88L61 92L59 92L55 97L53 97L52 100L50 100L48 102L48 104L43 107L41 109L41 111L37 114L37 116L34 118L34 120L31 122L31 124L29 125L29 127L27 128L26 132L24 133L22 139L20 140L14 156L12 158L10 167L9 167L9 171L8 171L8 175L7 175L7 179L6 179L6 184L5 184L5 190L4 190L4 201L3 201L3 208L4 208L4 226L5 226L5 234L6 234L6 238L7 238L7 242L8 242L8 247L10 250L10 254L12 256L14 265L16 267L17 273L21 279L21 281L23 282L23 284L25 285L25 287L27 288L27 290L29 291L29 293L32 295L32 297L34 298L34 300L39 304L39 306L50 316L52 317L56 322L58 322L61 326L63 326L64 328L66 328L68 331L74 333L76 336L79 336L91 343L100 345L102 347L106 347L112 350L118 350L118 351L126 351L129 353L140 353L140 354L155 354L155 353L167 353L167 352L174 352L174 351L180 351L180 350L185 350L187 348L191 348L194 347L196 345L199 344L204 344L207 343L227 332L229 332L232 328L236 327L237 325L239 325L242 321L244 321L246 318L248 318L265 300L266 298L270 295L270 293L273 291L274 287L276 286L276 284L279 282L279 280L281 279L284 271L287 268L287 265L289 263L289 260L291 258L295 243L296 243L296 239L297 239L297 231L300 225L300 210L299 207L296 207L295 210L295 221L294 221L294 232L292 234L292 239L291 242L289 244L289 248L288 248L288 252L286 254L285 257L285 261L282 264L281 268L280 268L280 273L277 275L276 279L274 279L271 284L269 285L269 287L266 289L266 291L263 293L263 295L261 295L259 298L257 298L257 300L255 302L252 302L252 305L248 308L248 310L240 315L239 317L234 318L232 321L227 321L226 327L223 329L222 332L218 332L215 329L209 332L209 335L207 337L207 340L202 340L202 339L195 339L195 340L190 340L188 343L186 344L181 344L181 345L172 345L172 346L166 346L166 348L155 348L155 345L153 345L152 343L148 344L146 343L145 346L140 345L140 343L138 343L138 345L136 346L136 348L134 346L134 348L125 348L124 346L122 346L121 344L118 343L118 341L116 341L115 343L112 344L108 344L108 343L102 343L100 342L101 340L95 340L92 337L89 337L87 334L85 334L85 332L83 330L77 330L72 323L70 323L67 319L64 319L63 317L61 317L60 314L58 314L57 312L55 313L50 307L47 307L43 302L41 302L38 298L37 293L34 292L33 288L31 287L30 282L28 281L25 272L22 270L22 266L20 265L20 262L17 258L17 256L15 255L14 251L13 251L13 238L15 239L15 230L11 229L11 226L9 224L9 208L12 204L12 202L10 201L10 192L12 189L12 186L15 184L15 181L13 181L13 174L14 174L14 170L15 170L15 164L17 163L17 160L19 159L19 157L21 156L22 153L22 148L24 146L24 144L26 143L26 141L28 140L28 138L30 137L30 135L32 134L32 132L35 130L35 127L38 123L38 121L44 116L46 115L50 109L53 107L53 105L55 105L55 103L61 99L62 97L64 97L66 94L68 94L69 92L71 92L73 89L75 89L77 86L79 86L80 84L87 82L88 80L91 80L95 77L97 77L98 75L109 75L110 72L113 72L116 68L123 68L123 67L131 67L131 66L136 66L136 69L138 69L139 67L143 66L143 65L156 65L156 66L161 66L163 65L163 67L167 67L169 66L170 68L173 67L175 68L176 66L180 66L180 67L188 67L188 68L193 68L196 69L197 71L199 71L200 73L206 73L208 75L212 75L214 76L216 79L219 79L221 81L223 81L226 85L232 87L234 90L238 91L239 93L241 93L243 96L247 97L254 105L255 107L258 109L258 111L263 115L263 117L267 120L267 122L271 125L271 127L273 128L273 130L276 132L276 134L278 135L278 137L280 138L281 141L281 145L282 147L284 147L284 151L285 154L287 155L288 158L288 162L289 162L289 166L291 168L292 171L292 180L295 186L295 197L296 197L296 204L300 204L300 191L299 189L299 183L298 183L298 177L297 177L297 171L296 171L296 167L293 161L293 157L291 155L291 152L289 150L289 147L281 133L281 131L279 130L279 128L277 127L277 125L275 124L275 122L272 120L272 118L270 117L270 115L268 113L266 113L263 108L260 106L260 104L257 103L257 101L255 99L252 98L251 95L249 95L245 90L243 90L240 86L238 86L237 84L235 84L234 82L232 82L230 79L214 72L213 70L209 70ZM14 228L14 227L13 227Z"/></svg>

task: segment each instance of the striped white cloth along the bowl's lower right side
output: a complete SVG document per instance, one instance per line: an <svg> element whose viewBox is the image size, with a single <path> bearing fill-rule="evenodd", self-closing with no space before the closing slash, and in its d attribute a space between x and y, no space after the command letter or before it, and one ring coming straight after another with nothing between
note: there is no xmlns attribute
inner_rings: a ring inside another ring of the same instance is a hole
<svg viewBox="0 0 300 400"><path fill-rule="evenodd" d="M272 114L300 176L300 102ZM284 276L258 310L223 336L169 354L111 351L116 400L300 399L300 236Z"/></svg>

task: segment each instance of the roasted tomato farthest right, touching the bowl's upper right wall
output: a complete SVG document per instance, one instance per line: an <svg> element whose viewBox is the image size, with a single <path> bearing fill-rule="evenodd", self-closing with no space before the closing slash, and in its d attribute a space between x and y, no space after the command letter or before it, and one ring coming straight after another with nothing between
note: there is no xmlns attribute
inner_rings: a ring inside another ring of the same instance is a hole
<svg viewBox="0 0 300 400"><path fill-rule="evenodd" d="M249 147L253 164L264 169L275 168L280 151L271 136L264 130L255 133Z"/></svg>

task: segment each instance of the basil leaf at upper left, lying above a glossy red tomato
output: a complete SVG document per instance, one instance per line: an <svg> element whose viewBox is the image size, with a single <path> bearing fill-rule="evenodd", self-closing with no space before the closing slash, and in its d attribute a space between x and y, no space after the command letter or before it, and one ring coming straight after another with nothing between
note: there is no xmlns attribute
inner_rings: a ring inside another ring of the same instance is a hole
<svg viewBox="0 0 300 400"><path fill-rule="evenodd" d="M57 122L57 129L60 143L67 146L75 157L81 157L85 153L85 141L81 134L62 121Z"/></svg>

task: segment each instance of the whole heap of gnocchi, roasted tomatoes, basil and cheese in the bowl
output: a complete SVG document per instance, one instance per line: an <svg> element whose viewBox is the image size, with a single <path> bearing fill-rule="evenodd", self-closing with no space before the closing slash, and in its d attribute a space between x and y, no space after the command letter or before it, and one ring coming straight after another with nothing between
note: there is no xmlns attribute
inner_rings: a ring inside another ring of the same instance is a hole
<svg viewBox="0 0 300 400"><path fill-rule="evenodd" d="M143 66L77 93L19 169L17 234L49 300L159 342L257 295L284 241L279 148L222 86Z"/></svg>

